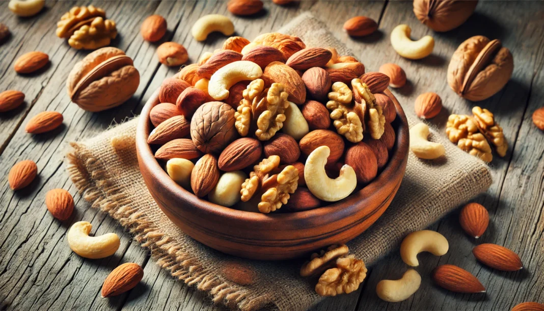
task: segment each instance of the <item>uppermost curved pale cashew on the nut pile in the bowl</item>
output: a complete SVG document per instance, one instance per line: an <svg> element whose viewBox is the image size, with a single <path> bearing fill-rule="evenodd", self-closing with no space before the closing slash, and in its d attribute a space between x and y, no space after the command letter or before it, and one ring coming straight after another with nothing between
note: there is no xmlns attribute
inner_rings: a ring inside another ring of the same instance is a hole
<svg viewBox="0 0 544 311"><path fill-rule="evenodd" d="M212 75L208 82L208 94L215 100L228 97L228 89L244 80L255 80L263 75L259 65L249 60L238 60L222 66Z"/></svg>

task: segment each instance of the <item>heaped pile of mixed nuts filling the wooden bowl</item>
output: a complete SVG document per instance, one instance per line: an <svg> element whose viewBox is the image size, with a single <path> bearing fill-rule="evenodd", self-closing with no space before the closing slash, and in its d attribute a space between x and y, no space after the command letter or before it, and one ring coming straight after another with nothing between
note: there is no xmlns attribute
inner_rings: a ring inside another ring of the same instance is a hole
<svg viewBox="0 0 544 311"><path fill-rule="evenodd" d="M147 142L199 198L261 213L315 209L386 166L396 117L389 83L295 36L234 36L164 80Z"/></svg>

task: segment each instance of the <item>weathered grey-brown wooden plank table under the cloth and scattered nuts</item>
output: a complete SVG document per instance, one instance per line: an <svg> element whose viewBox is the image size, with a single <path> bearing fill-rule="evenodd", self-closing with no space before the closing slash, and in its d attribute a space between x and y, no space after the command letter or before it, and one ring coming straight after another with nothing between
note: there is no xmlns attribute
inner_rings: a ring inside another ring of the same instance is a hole
<svg viewBox="0 0 544 311"><path fill-rule="evenodd" d="M91 208L77 193L64 167L69 142L81 141L137 115L165 77L175 68L160 65L157 44L143 41L141 22L151 14L168 20L164 41L187 47L190 62L200 54L222 45L224 37L212 35L205 43L196 42L189 31L204 14L230 15L225 2L215 1L139 1L92 2L107 11L118 26L113 45L126 51L140 71L141 82L131 100L101 113L85 112L70 102L65 81L72 66L87 52L76 51L55 36L55 22L74 5L87 1L47 2L38 16L20 19L0 3L0 21L12 36L0 48L0 91L18 89L26 94L21 108L0 115L0 309L13 310L221 310L202 292L174 280L168 272L149 260L149 252L133 242L131 236L112 218ZM421 288L401 303L385 303L375 294L383 278L400 277L405 270L398 254L392 254L369 269L357 292L329 298L314 310L510 310L523 301L544 303L544 133L531 121L531 114L544 105L544 4L542 2L480 2L474 15L454 31L434 33L421 25L412 13L411 2L302 1L288 7L265 3L265 12L256 17L233 17L237 33L252 39L280 28L302 11L310 10L327 22L331 31L355 51L375 71L382 63L397 63L409 77L407 85L393 90L405 109L423 92L436 92L444 109L430 120L444 129L450 113L469 113L474 105L461 99L446 83L446 71L455 48L473 35L498 38L514 55L515 69L510 82L498 94L478 105L495 113L510 144L506 157L494 156L493 185L476 202L486 206L491 222L479 240L469 239L461 230L458 212L432 225L450 241L448 254L438 258L422 254L425 266ZM363 39L349 38L342 25L351 16L365 15L379 22L379 31ZM431 56L418 61L399 57L391 48L389 33L398 23L412 27L412 36L434 36ZM49 54L51 64L36 75L20 76L13 70L14 60L29 51ZM24 125L35 114L53 110L64 115L64 125L45 135L32 136ZM21 191L11 191L6 176L17 161L31 159L38 164L39 177ZM46 210L44 196L52 188L72 193L75 215L66 222L54 219ZM66 231L76 221L90 221L97 234L115 232L121 247L113 257L86 260L70 251ZM471 254L478 243L497 243L514 250L525 269L499 272L478 264ZM132 291L114 298L101 298L104 278L119 263L132 261L144 267L143 281ZM455 294L432 285L430 272L440 264L454 264L477 276L486 294Z"/></svg>

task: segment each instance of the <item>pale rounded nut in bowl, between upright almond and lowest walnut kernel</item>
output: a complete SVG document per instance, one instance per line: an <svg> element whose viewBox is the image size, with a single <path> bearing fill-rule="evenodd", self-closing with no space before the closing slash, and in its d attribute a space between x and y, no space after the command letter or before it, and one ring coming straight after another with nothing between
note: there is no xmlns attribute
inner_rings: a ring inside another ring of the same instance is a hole
<svg viewBox="0 0 544 311"><path fill-rule="evenodd" d="M215 188L208 194L208 199L218 205L230 207L240 200L242 184L248 178L241 170L226 172L221 175Z"/></svg>

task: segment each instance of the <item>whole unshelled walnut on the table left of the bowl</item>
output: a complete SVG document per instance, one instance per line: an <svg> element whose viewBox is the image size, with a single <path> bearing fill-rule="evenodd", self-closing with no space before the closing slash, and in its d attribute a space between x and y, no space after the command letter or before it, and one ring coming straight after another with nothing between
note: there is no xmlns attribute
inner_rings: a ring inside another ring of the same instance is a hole
<svg viewBox="0 0 544 311"><path fill-rule="evenodd" d="M132 59L115 47L96 50L70 71L68 95L86 111L103 111L121 105L138 89L140 73Z"/></svg>

